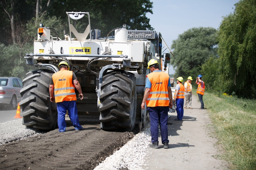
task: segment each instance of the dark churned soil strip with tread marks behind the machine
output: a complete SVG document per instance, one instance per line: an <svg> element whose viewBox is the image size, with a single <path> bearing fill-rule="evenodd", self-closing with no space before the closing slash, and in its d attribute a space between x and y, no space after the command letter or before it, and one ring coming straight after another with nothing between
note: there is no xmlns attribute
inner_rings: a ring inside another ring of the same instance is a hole
<svg viewBox="0 0 256 170"><path fill-rule="evenodd" d="M134 132L107 132L99 124L83 124L75 131L58 129L0 146L0 169L94 169L122 147Z"/></svg>

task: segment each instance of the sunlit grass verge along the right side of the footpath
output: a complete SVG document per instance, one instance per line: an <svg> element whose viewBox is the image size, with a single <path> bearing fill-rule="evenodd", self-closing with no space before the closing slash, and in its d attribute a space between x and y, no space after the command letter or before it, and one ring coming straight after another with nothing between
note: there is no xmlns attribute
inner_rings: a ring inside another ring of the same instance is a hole
<svg viewBox="0 0 256 170"><path fill-rule="evenodd" d="M223 148L219 155L230 169L256 169L256 100L205 93L214 133Z"/></svg>

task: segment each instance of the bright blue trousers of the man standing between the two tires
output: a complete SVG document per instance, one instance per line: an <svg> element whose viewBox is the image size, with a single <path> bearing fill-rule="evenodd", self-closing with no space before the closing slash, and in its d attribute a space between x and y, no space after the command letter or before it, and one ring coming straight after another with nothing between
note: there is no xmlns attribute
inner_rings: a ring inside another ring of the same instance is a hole
<svg viewBox="0 0 256 170"><path fill-rule="evenodd" d="M63 101L57 103L58 110L58 126L59 132L66 131L65 114L68 111L69 118L75 127L75 129L81 129L82 126L79 124L78 110L76 107L76 101Z"/></svg>

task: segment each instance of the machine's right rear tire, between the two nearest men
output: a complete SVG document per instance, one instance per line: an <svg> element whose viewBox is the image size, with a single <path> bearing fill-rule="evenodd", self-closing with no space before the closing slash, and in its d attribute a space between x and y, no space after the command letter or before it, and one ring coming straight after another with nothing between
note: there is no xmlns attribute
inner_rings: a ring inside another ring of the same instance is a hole
<svg viewBox="0 0 256 170"><path fill-rule="evenodd" d="M133 73L109 72L103 77L100 122L103 130L132 131L136 118L136 83Z"/></svg>

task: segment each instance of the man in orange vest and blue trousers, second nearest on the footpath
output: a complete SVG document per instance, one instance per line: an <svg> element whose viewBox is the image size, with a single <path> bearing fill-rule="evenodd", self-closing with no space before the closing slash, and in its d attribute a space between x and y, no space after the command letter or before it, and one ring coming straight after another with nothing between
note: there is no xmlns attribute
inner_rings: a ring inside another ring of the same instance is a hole
<svg viewBox="0 0 256 170"><path fill-rule="evenodd" d="M178 77L177 78L177 85L175 88L175 96L174 101L176 101L176 112L177 112L177 118L174 119L176 121L182 121L183 118L183 105L184 105L184 98L185 98L185 88L182 85L183 78Z"/></svg>

